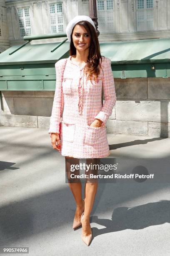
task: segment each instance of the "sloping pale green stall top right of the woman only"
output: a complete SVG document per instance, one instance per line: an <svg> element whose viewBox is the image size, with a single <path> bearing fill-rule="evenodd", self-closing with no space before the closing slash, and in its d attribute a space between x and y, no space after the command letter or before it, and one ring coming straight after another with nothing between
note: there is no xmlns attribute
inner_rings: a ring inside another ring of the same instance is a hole
<svg viewBox="0 0 170 256"><path fill-rule="evenodd" d="M100 50L112 64L170 62L170 38L102 43Z"/></svg>

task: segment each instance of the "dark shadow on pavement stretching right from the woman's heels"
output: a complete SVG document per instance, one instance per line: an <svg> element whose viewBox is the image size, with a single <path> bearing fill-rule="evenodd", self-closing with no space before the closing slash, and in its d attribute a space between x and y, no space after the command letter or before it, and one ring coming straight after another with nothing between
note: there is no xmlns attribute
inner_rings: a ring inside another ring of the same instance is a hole
<svg viewBox="0 0 170 256"><path fill-rule="evenodd" d="M118 207L112 213L112 220L90 218L91 223L97 223L105 228L92 228L93 238L96 236L126 229L139 230L153 225L170 223L170 201L160 200L135 207Z"/></svg>

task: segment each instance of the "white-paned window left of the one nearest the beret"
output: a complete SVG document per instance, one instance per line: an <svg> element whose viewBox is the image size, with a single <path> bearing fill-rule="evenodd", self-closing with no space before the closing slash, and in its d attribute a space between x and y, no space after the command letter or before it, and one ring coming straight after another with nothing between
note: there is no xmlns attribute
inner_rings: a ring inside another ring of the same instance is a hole
<svg viewBox="0 0 170 256"><path fill-rule="evenodd" d="M20 37L31 35L30 8L18 9L18 23L20 28Z"/></svg>

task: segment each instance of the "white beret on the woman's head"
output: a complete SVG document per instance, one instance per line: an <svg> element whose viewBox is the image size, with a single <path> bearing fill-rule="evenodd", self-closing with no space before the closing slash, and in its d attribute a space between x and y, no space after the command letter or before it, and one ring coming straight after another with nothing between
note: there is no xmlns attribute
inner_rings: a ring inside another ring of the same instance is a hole
<svg viewBox="0 0 170 256"><path fill-rule="evenodd" d="M66 34L67 34L67 38L68 38L69 42L71 41L72 28L75 26L75 24L77 24L77 22L82 21L82 20L87 20L95 28L95 23L92 21L92 19L90 17L85 16L85 15L75 16L75 18L73 18L72 20L69 21L67 28L66 28Z"/></svg>

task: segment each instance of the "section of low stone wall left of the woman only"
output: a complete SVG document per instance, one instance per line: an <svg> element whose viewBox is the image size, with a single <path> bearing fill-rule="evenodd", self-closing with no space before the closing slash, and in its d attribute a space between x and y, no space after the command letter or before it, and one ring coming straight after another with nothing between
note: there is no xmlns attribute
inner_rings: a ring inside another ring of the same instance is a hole
<svg viewBox="0 0 170 256"><path fill-rule="evenodd" d="M53 91L3 91L0 125L49 128L53 98Z"/></svg>

